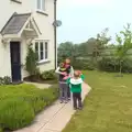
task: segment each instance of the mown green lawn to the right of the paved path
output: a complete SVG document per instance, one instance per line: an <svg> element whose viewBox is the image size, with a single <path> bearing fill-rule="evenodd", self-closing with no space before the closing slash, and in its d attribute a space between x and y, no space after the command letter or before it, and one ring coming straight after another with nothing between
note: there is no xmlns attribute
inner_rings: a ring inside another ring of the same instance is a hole
<svg viewBox="0 0 132 132"><path fill-rule="evenodd" d="M132 75L85 75L92 90L63 132L132 132Z"/></svg>

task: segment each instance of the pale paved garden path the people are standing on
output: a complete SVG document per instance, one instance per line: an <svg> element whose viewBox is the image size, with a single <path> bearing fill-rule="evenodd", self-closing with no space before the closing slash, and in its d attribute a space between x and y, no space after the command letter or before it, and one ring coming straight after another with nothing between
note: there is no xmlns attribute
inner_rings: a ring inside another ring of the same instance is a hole
<svg viewBox="0 0 132 132"><path fill-rule="evenodd" d="M90 91L90 87L82 85L82 100ZM34 120L33 124L15 132L62 132L69 122L72 116L76 111L73 110L72 101L68 103L59 103L57 100L53 106L42 111Z"/></svg>

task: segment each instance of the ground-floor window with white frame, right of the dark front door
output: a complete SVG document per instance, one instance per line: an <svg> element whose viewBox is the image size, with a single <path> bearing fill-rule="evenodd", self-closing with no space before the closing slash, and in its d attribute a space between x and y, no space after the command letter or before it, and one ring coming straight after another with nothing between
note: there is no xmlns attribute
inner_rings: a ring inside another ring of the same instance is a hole
<svg viewBox="0 0 132 132"><path fill-rule="evenodd" d="M46 41L35 42L35 53L37 54L38 62L48 59L48 43Z"/></svg>

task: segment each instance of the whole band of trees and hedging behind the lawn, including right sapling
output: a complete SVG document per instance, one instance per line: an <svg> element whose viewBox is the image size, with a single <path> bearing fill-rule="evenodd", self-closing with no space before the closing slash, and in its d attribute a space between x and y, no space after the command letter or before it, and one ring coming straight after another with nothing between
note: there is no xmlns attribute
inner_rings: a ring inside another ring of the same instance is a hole
<svg viewBox="0 0 132 132"><path fill-rule="evenodd" d="M70 57L76 68L90 69L94 66L107 72L132 72L132 31L130 24L116 35L117 43L110 44L111 36L106 28L97 37L90 37L88 41L74 44L72 42L62 43L58 46L58 58ZM128 57L129 53L129 57Z"/></svg>

